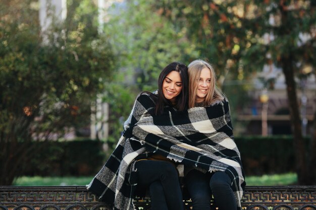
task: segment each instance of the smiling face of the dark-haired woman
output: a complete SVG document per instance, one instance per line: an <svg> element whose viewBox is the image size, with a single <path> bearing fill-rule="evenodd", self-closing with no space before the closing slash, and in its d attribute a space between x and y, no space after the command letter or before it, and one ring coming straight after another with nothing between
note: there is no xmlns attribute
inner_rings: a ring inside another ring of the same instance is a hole
<svg viewBox="0 0 316 210"><path fill-rule="evenodd" d="M182 81L180 74L176 71L170 72L163 82L163 94L165 98L174 104L176 97L181 93L181 90Z"/></svg>

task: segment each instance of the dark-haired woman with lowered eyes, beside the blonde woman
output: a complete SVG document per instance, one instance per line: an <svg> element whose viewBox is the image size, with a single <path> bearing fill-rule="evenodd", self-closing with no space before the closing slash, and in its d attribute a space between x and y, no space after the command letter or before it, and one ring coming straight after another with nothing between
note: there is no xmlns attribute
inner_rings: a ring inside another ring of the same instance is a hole
<svg viewBox="0 0 316 210"><path fill-rule="evenodd" d="M159 89L140 93L124 123L124 134L104 167L87 186L115 209L132 210L135 190L149 189L152 210L183 210L182 193L174 162L148 151L133 126L170 111L187 109L186 65L172 62L159 77Z"/></svg>

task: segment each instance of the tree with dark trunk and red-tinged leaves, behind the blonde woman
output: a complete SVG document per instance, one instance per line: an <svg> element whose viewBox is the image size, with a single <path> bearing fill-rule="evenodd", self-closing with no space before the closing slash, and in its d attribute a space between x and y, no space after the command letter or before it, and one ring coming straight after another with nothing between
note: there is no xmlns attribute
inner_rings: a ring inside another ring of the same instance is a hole
<svg viewBox="0 0 316 210"><path fill-rule="evenodd" d="M315 184L316 138L311 141L314 146L308 147L311 150L305 148L295 84L304 65L316 65L314 1L166 0L155 2L154 8L163 10L174 25L187 28L187 37L198 46L201 57L209 58L221 70L220 80L228 73L243 80L251 76L249 73L261 71L268 62L267 55L282 67L298 182Z"/></svg>

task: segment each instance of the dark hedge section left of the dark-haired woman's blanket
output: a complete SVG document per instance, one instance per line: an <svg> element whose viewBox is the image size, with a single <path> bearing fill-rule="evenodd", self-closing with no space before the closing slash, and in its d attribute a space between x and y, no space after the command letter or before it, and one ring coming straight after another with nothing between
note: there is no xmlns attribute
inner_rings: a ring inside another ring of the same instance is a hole
<svg viewBox="0 0 316 210"><path fill-rule="evenodd" d="M35 143L40 148L26 176L91 176L106 160L103 143L91 139Z"/></svg>

